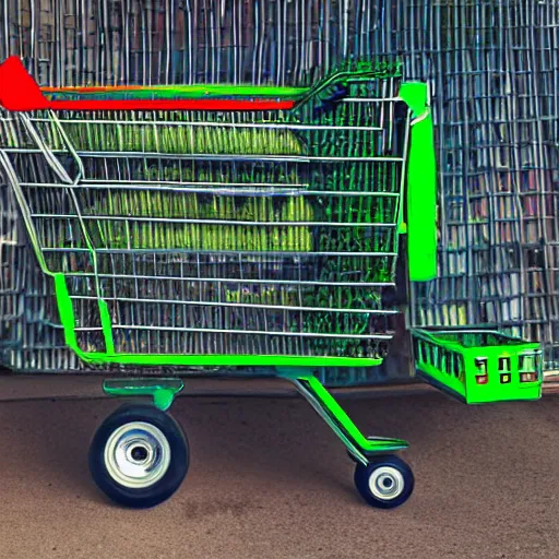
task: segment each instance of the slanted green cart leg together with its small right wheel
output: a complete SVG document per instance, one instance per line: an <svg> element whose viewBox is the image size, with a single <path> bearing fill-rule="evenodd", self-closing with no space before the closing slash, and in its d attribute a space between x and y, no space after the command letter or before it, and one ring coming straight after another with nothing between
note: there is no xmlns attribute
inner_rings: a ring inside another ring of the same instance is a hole
<svg viewBox="0 0 559 559"><path fill-rule="evenodd" d="M415 484L412 469L399 456L386 456L406 449L406 441L381 437L366 438L314 376L287 370L278 373L295 384L355 459L355 486L368 504L393 509L409 498Z"/></svg>

